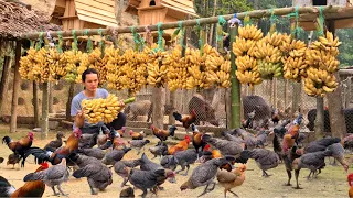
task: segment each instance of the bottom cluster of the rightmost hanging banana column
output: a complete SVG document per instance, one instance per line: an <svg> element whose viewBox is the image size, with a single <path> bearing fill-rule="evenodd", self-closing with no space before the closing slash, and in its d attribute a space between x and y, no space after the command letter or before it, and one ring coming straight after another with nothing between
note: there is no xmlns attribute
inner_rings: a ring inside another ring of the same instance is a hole
<svg viewBox="0 0 353 198"><path fill-rule="evenodd" d="M304 78L304 91L309 96L324 97L327 92L332 92L339 86L334 75L323 69L309 67L308 77Z"/></svg>

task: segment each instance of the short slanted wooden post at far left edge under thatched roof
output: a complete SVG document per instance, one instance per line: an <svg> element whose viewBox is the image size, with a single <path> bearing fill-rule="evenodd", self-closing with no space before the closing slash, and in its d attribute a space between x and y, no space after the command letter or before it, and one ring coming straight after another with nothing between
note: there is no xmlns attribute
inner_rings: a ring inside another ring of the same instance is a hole
<svg viewBox="0 0 353 198"><path fill-rule="evenodd" d="M8 86L9 86L9 76L11 72L11 63L12 59L10 56L3 57L3 67L2 67L2 76L0 81L0 110L2 109L2 101L4 99L4 96L8 92ZM0 111L1 113L1 111Z"/></svg>

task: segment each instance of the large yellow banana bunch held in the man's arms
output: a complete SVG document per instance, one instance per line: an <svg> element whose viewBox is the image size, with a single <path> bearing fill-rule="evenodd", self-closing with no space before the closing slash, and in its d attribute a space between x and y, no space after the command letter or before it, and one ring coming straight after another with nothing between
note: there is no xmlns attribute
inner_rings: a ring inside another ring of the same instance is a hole
<svg viewBox="0 0 353 198"><path fill-rule="evenodd" d="M84 99L82 107L85 118L89 123L98 123L100 121L110 123L118 117L119 111L124 108L124 106L120 106L118 97L111 94L109 94L106 99Z"/></svg>

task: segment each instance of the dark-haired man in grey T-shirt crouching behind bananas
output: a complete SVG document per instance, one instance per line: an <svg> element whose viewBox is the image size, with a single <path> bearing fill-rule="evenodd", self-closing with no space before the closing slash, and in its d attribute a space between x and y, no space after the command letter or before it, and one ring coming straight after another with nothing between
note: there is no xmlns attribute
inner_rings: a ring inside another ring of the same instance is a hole
<svg viewBox="0 0 353 198"><path fill-rule="evenodd" d="M98 73L94 68L88 68L82 74L82 84L84 85L84 90L77 94L71 105L71 116L74 119L74 129L77 127L82 130L83 133L99 133L101 128L105 132L108 129L114 128L119 130L126 124L126 116L122 112L119 112L118 118L115 119L111 123L107 125L104 122L98 122L97 124L88 123L85 119L85 116L82 111L82 100L84 99L97 99L97 98L107 98L108 91L103 88L98 88Z"/></svg>

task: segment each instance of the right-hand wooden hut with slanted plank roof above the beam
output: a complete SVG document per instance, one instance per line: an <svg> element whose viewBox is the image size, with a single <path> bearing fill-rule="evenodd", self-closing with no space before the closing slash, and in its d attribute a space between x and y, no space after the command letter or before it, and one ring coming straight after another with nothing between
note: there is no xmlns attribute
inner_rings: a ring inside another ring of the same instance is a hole
<svg viewBox="0 0 353 198"><path fill-rule="evenodd" d="M129 0L125 11L138 15L140 25L175 22L189 15L197 18L192 0ZM164 32L168 40L173 30Z"/></svg>

